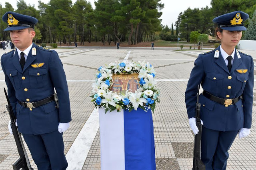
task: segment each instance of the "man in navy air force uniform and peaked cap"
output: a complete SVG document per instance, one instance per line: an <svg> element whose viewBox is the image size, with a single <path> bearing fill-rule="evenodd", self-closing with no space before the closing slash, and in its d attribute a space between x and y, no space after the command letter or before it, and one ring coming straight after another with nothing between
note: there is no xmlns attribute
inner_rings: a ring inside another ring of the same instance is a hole
<svg viewBox="0 0 256 170"><path fill-rule="evenodd" d="M10 37L16 48L2 55L1 65L10 103L38 170L65 170L62 132L71 121L68 85L56 51L40 47L32 40L38 20L6 12ZM58 106L54 97L58 95ZM9 123L9 131L12 133Z"/></svg>

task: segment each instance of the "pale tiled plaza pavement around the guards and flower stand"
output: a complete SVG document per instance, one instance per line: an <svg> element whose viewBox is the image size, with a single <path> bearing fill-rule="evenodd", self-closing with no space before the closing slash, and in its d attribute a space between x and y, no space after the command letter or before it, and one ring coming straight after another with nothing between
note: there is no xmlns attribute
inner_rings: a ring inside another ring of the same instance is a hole
<svg viewBox="0 0 256 170"><path fill-rule="evenodd" d="M130 51L131 50L131 51ZM158 87L161 89L160 103L153 114L157 170L186 170L192 167L192 147L194 136L188 124L184 93L194 60L201 51L173 51L174 48L79 48L56 49L63 62L68 79L72 122L64 132L65 154L90 117L94 106L90 102L91 84L96 69L113 61L122 61L128 51L128 60L148 61L155 67ZM256 51L241 50L252 55L256 61ZM1 49L1 55L3 50ZM256 63L256 62L255 62ZM254 71L256 74L256 71ZM4 73L0 69L0 169L10 170L18 159L14 138L8 132L8 113L3 113L6 99L3 93ZM254 86L256 97L256 86ZM256 101L253 107L251 134L240 140L236 137L230 148L228 170L256 170ZM89 132L88 132L89 133ZM99 130L84 156L83 170L100 170ZM26 147L27 148L27 147ZM27 152L36 170L30 152Z"/></svg>

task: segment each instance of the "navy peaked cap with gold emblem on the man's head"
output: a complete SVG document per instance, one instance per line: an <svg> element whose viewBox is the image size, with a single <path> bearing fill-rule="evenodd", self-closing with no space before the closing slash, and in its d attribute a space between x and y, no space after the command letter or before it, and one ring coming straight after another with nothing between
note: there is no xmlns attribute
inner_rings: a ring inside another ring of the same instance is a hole
<svg viewBox="0 0 256 170"><path fill-rule="evenodd" d="M4 31L22 30L25 28L34 28L38 20L32 16L18 14L16 12L6 12L2 20L8 24Z"/></svg>

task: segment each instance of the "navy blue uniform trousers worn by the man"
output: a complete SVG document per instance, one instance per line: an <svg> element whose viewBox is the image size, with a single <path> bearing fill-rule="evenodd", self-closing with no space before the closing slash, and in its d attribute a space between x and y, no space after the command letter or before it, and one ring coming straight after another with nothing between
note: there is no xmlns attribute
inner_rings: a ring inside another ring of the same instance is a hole
<svg viewBox="0 0 256 170"><path fill-rule="evenodd" d="M66 170L62 133L22 134L38 170Z"/></svg>

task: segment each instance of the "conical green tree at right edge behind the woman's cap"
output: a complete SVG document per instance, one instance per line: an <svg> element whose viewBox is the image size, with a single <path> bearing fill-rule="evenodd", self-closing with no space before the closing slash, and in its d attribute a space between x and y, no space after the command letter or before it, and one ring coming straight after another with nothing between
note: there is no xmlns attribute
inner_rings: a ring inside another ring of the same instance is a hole
<svg viewBox="0 0 256 170"><path fill-rule="evenodd" d="M256 40L256 10L252 19L249 18L249 25L244 35L245 40Z"/></svg>

